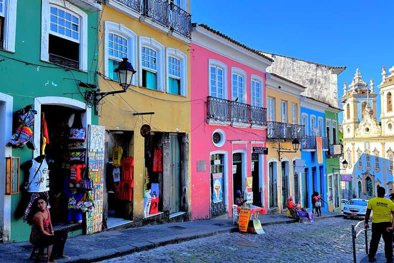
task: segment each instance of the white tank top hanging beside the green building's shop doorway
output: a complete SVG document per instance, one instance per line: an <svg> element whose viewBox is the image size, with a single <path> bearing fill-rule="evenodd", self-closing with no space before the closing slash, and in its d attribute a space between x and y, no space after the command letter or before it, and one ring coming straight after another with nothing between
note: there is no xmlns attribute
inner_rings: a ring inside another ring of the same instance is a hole
<svg viewBox="0 0 394 263"><path fill-rule="evenodd" d="M29 189L28 192L45 192L49 191L49 170L45 159L39 163L34 159L29 169Z"/></svg>

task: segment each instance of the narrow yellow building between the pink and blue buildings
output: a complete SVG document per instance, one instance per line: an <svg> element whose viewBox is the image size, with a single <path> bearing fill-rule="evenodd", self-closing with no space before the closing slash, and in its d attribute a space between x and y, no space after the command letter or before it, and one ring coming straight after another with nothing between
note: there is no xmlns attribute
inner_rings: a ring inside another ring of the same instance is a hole
<svg viewBox="0 0 394 263"><path fill-rule="evenodd" d="M274 73L268 75L268 208L270 213L281 213L286 208L287 196L293 195L293 176L290 176L293 162L301 159L301 150L294 151L292 141L304 138L304 126L300 125L300 94L306 87Z"/></svg>

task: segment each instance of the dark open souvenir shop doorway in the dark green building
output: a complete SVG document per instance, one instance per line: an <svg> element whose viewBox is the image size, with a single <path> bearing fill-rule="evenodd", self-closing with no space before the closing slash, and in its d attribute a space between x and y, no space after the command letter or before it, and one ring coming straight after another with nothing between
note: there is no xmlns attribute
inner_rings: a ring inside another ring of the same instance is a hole
<svg viewBox="0 0 394 263"><path fill-rule="evenodd" d="M79 200L83 193L79 181L86 162L86 124L84 111L64 106L41 106L40 154L45 154L50 177L49 202L54 225L82 223L82 214L69 209L69 200ZM38 116L36 118L39 118ZM71 129L79 129L79 136L71 136ZM45 139L44 139L45 138ZM36 157L36 156L34 156ZM71 178L75 169L75 178Z"/></svg>

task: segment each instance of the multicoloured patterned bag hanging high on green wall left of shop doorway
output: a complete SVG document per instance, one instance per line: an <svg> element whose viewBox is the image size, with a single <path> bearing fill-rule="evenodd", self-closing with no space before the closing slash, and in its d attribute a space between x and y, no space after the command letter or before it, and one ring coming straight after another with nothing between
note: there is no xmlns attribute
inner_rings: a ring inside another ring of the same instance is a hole
<svg viewBox="0 0 394 263"><path fill-rule="evenodd" d="M37 111L29 110L25 113L24 110L21 111L18 120L18 128L16 132L12 135L11 140L7 143L7 146L18 146L23 147L27 142L30 142L32 149L34 149L33 141L33 130L34 130L34 115Z"/></svg>

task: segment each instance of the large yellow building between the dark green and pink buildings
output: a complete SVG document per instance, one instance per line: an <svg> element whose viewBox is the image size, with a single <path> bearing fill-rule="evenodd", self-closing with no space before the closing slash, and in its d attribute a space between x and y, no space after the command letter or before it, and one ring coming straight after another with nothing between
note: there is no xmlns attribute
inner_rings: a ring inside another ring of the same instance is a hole
<svg viewBox="0 0 394 263"><path fill-rule="evenodd" d="M108 161L104 221L111 228L187 219L190 1L106 2L98 25L98 86L121 90L114 69L122 58L136 73L126 93L104 97L98 110Z"/></svg>

